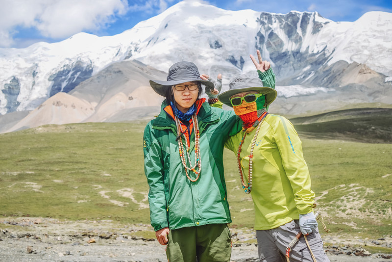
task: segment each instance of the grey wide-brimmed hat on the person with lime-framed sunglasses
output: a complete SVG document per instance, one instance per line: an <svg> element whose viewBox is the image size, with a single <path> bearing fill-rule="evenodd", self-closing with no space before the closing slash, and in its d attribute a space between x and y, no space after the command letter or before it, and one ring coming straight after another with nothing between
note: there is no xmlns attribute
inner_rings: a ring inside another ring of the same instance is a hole
<svg viewBox="0 0 392 262"><path fill-rule="evenodd" d="M276 98L275 89L263 86L263 82L258 78L249 78L246 75L240 75L230 80L229 90L218 96L219 101L223 104L233 107L230 103L230 97L247 91L257 91L266 96L266 103L270 105Z"/></svg>

